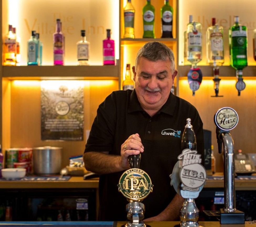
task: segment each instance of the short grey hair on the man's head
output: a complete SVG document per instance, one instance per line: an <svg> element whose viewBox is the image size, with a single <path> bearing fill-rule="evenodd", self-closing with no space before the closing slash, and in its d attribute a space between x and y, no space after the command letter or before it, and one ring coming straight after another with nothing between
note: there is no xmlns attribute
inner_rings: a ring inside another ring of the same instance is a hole
<svg viewBox="0 0 256 227"><path fill-rule="evenodd" d="M172 73L175 70L175 58L173 51L168 46L158 41L146 43L139 49L135 60L135 71L137 71L137 65L141 57L145 57L149 61L170 60Z"/></svg>

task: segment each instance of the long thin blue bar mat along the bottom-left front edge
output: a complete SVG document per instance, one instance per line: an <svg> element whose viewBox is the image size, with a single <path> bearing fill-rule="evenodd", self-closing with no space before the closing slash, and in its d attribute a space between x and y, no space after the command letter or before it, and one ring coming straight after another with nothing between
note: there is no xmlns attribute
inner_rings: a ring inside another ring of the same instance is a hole
<svg viewBox="0 0 256 227"><path fill-rule="evenodd" d="M52 227L73 227L83 225L85 227L115 227L113 221L3 221L0 226L29 227L50 225Z"/></svg>

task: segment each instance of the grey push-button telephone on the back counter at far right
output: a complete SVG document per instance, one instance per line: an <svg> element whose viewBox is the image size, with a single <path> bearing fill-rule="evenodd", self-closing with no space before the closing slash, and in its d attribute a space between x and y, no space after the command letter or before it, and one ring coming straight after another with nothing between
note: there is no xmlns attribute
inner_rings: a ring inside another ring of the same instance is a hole
<svg viewBox="0 0 256 227"><path fill-rule="evenodd" d="M251 175L256 173L252 158L245 153L234 154L235 158L235 173L237 175Z"/></svg>

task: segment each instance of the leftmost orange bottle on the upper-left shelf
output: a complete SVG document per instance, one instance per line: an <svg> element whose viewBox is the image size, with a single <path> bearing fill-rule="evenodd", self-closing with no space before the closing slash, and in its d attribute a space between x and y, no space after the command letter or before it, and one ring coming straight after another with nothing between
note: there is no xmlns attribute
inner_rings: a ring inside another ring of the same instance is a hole
<svg viewBox="0 0 256 227"><path fill-rule="evenodd" d="M3 65L15 66L16 64L16 39L9 24L9 30L3 42Z"/></svg>

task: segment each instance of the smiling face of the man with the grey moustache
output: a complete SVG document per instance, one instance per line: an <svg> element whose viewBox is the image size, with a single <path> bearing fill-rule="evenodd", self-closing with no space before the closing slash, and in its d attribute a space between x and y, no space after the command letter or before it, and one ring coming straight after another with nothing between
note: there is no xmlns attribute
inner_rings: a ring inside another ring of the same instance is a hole
<svg viewBox="0 0 256 227"><path fill-rule="evenodd" d="M170 60L154 62L144 57L139 59L137 71L132 69L140 105L145 111L156 113L167 101L177 71L172 73Z"/></svg>

